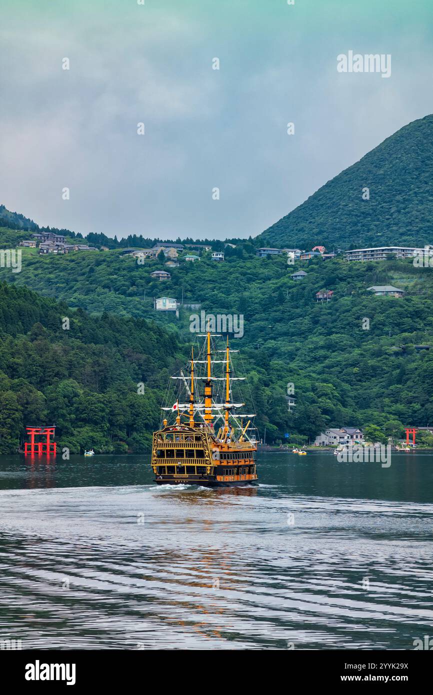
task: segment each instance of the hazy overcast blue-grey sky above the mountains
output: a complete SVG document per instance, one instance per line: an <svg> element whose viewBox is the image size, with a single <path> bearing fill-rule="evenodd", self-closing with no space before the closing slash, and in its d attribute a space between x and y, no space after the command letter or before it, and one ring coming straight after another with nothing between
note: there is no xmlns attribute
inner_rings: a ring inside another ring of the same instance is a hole
<svg viewBox="0 0 433 695"><path fill-rule="evenodd" d="M0 202L82 234L255 236L433 112L432 19L432 0L2 0ZM349 50L391 54L391 77L338 73Z"/></svg>

